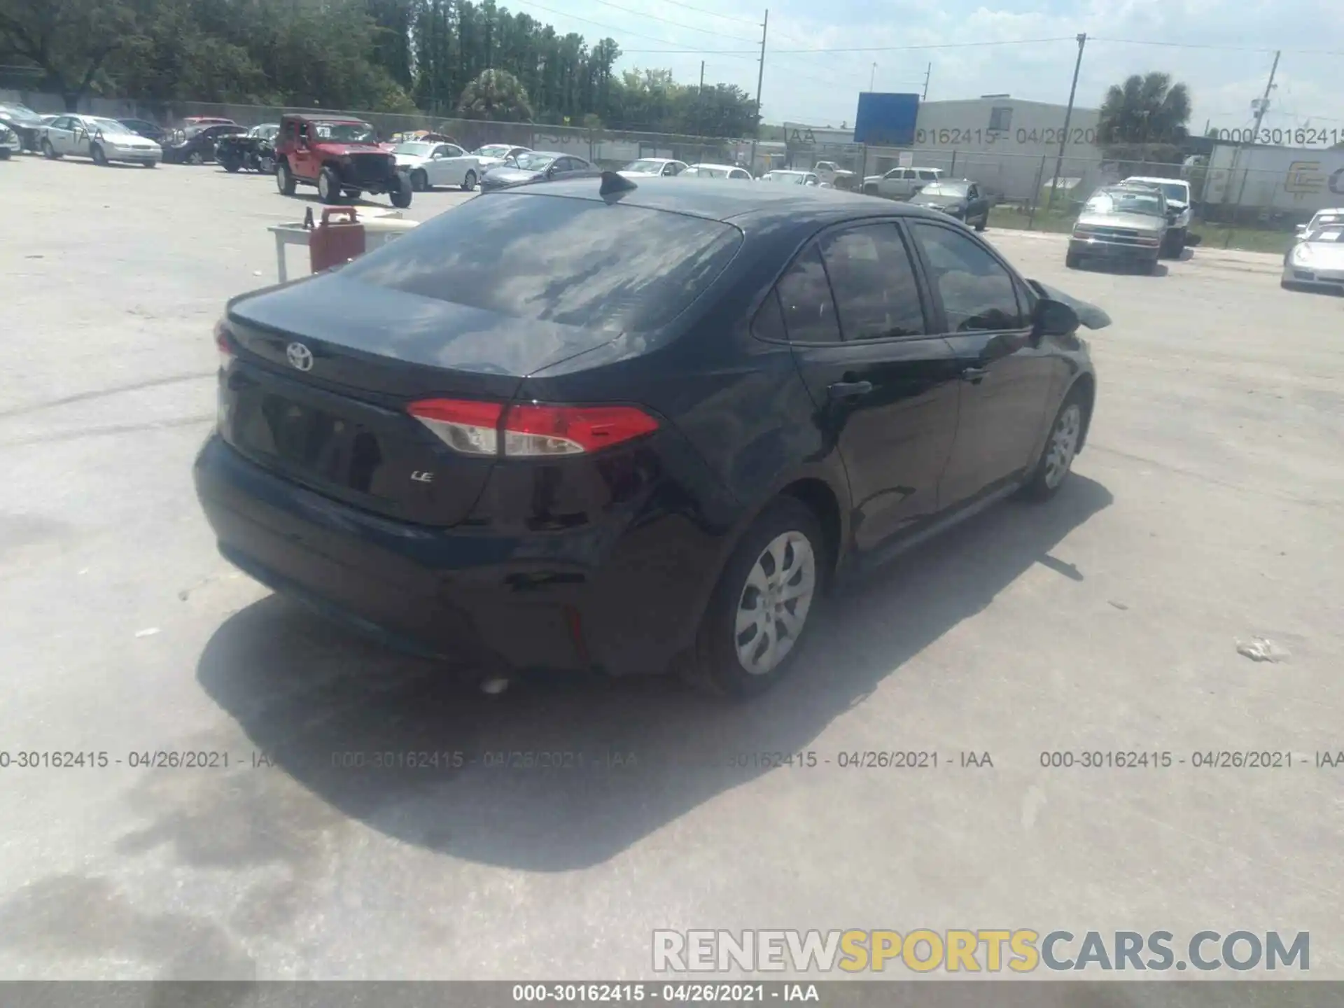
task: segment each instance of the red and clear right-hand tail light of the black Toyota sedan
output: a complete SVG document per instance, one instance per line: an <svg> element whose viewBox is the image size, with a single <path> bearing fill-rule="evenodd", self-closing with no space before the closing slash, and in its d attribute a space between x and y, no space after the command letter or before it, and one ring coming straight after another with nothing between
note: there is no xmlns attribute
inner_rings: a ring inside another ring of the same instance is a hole
<svg viewBox="0 0 1344 1008"><path fill-rule="evenodd" d="M454 452L509 458L601 452L659 427L633 406L501 406L468 399L422 399L407 411Z"/></svg>

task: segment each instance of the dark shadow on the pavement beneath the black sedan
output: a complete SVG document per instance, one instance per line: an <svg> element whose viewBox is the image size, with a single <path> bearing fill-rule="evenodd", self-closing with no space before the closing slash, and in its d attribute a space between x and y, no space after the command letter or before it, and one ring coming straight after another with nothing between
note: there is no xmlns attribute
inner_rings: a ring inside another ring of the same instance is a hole
<svg viewBox="0 0 1344 1008"><path fill-rule="evenodd" d="M702 698L671 677L534 676L491 698L276 597L215 632L198 679L255 749L324 806L473 862L582 868L769 773L735 767L732 755L812 747L833 718L1023 571L1059 570L1051 550L1110 503L1103 487L1074 474L1047 505L999 505L844 589L793 675L750 703ZM1070 569L1068 577L1083 575ZM540 753L559 769L530 769L538 758L527 754ZM172 821L208 835L237 829L238 814L258 824L297 814L265 808L255 785L235 790L258 808L220 801ZM160 825L177 829L167 817Z"/></svg>

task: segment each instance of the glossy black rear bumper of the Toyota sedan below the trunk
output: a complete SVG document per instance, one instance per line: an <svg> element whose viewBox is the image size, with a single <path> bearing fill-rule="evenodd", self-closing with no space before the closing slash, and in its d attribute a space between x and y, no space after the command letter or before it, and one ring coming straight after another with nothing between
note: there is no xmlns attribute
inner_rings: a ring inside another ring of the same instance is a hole
<svg viewBox="0 0 1344 1008"><path fill-rule="evenodd" d="M415 526L284 480L218 435L195 482L220 552L257 581L474 668L661 672L694 640L712 586L707 538L671 520L535 536Z"/></svg>

